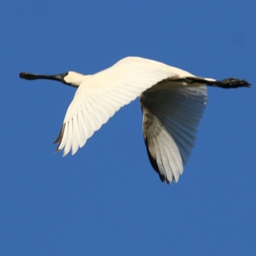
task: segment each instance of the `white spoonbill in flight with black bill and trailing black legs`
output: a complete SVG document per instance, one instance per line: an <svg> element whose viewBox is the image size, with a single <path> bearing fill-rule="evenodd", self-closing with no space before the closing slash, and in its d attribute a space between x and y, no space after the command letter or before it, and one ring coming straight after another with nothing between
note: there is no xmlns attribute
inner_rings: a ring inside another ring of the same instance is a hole
<svg viewBox="0 0 256 256"><path fill-rule="evenodd" d="M123 106L140 97L143 138L149 161L162 182L177 182L195 145L207 103L207 86L250 87L235 77L194 76L155 60L129 56L92 75L68 71L58 75L21 72L20 78L50 79L77 88L67 109L56 152L74 155L88 138Z"/></svg>

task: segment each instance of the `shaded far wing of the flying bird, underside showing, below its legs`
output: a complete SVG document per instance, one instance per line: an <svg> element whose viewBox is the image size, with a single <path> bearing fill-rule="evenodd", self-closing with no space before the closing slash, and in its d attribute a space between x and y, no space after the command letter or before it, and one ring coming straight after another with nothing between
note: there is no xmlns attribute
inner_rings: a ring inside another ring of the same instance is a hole
<svg viewBox="0 0 256 256"><path fill-rule="evenodd" d="M140 98L148 157L160 179L168 184L179 180L188 162L207 102L205 85L179 84L170 82L166 89L149 89Z"/></svg>

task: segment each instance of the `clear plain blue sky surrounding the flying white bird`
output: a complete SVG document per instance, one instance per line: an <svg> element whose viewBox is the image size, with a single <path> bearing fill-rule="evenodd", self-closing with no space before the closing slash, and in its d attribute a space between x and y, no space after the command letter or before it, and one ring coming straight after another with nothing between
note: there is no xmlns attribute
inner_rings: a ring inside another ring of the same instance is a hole
<svg viewBox="0 0 256 256"><path fill-rule="evenodd" d="M5 1L0 9L0 255L255 255L256 2ZM150 166L138 99L76 155L54 154L75 90L125 56L252 88L209 88L177 184Z"/></svg>

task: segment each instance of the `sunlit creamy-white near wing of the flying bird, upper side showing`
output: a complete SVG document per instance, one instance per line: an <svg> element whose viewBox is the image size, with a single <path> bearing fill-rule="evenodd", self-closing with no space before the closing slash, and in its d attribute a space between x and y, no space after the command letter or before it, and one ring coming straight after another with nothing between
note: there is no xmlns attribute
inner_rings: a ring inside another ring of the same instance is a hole
<svg viewBox="0 0 256 256"><path fill-rule="evenodd" d="M75 154L93 132L142 92L168 77L193 76L179 68L138 57L127 57L92 76L79 86L68 107L55 143L63 156Z"/></svg>

